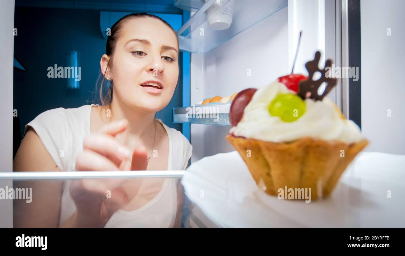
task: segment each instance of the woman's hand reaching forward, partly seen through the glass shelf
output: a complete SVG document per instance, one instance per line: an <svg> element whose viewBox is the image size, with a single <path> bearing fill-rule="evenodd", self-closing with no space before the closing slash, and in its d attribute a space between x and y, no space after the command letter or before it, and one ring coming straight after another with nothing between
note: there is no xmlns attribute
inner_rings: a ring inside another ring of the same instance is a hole
<svg viewBox="0 0 405 256"><path fill-rule="evenodd" d="M115 136L123 132L128 120L114 121L92 133L83 141L83 152L76 158L77 171L136 171L146 170L145 148L133 153L121 145ZM132 154L132 162L130 157ZM123 188L124 178L80 179L72 181L70 195L75 201L74 226L103 227L113 213L132 198ZM139 179L127 179L132 188L141 186Z"/></svg>

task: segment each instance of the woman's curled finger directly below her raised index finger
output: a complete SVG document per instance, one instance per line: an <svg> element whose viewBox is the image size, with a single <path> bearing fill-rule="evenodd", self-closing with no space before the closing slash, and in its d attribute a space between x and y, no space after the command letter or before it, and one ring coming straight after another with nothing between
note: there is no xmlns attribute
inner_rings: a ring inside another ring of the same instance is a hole
<svg viewBox="0 0 405 256"><path fill-rule="evenodd" d="M122 160L131 156L131 151L121 145L114 137L96 133L86 137L83 140L83 150L90 149L102 156L107 157L116 166L122 163Z"/></svg>

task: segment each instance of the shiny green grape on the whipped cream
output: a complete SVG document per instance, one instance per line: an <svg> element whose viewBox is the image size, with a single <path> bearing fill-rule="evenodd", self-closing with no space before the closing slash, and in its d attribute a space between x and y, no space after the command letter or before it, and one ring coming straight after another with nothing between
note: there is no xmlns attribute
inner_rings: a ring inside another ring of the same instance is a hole
<svg viewBox="0 0 405 256"><path fill-rule="evenodd" d="M294 122L305 113L305 102L295 94L279 94L269 104L269 113L284 122Z"/></svg>

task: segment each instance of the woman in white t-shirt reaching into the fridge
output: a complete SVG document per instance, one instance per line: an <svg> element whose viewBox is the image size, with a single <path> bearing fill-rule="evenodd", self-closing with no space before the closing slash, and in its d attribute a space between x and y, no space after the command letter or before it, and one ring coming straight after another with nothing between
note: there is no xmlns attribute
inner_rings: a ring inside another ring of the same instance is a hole
<svg viewBox="0 0 405 256"><path fill-rule="evenodd" d="M25 127L13 171L185 169L190 143L154 118L173 96L178 58L177 35L166 21L146 13L119 19L100 60L102 105L38 115ZM103 99L104 78L110 87ZM15 203L14 226L178 226L176 185L158 178L20 184L33 188L34 200Z"/></svg>

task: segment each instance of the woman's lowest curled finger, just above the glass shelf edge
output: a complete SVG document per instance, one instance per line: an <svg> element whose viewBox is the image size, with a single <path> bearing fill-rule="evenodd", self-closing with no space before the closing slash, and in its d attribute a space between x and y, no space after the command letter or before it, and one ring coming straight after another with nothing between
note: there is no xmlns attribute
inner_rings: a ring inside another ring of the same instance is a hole
<svg viewBox="0 0 405 256"><path fill-rule="evenodd" d="M77 171L120 171L114 162L90 149L83 149L75 166Z"/></svg>

